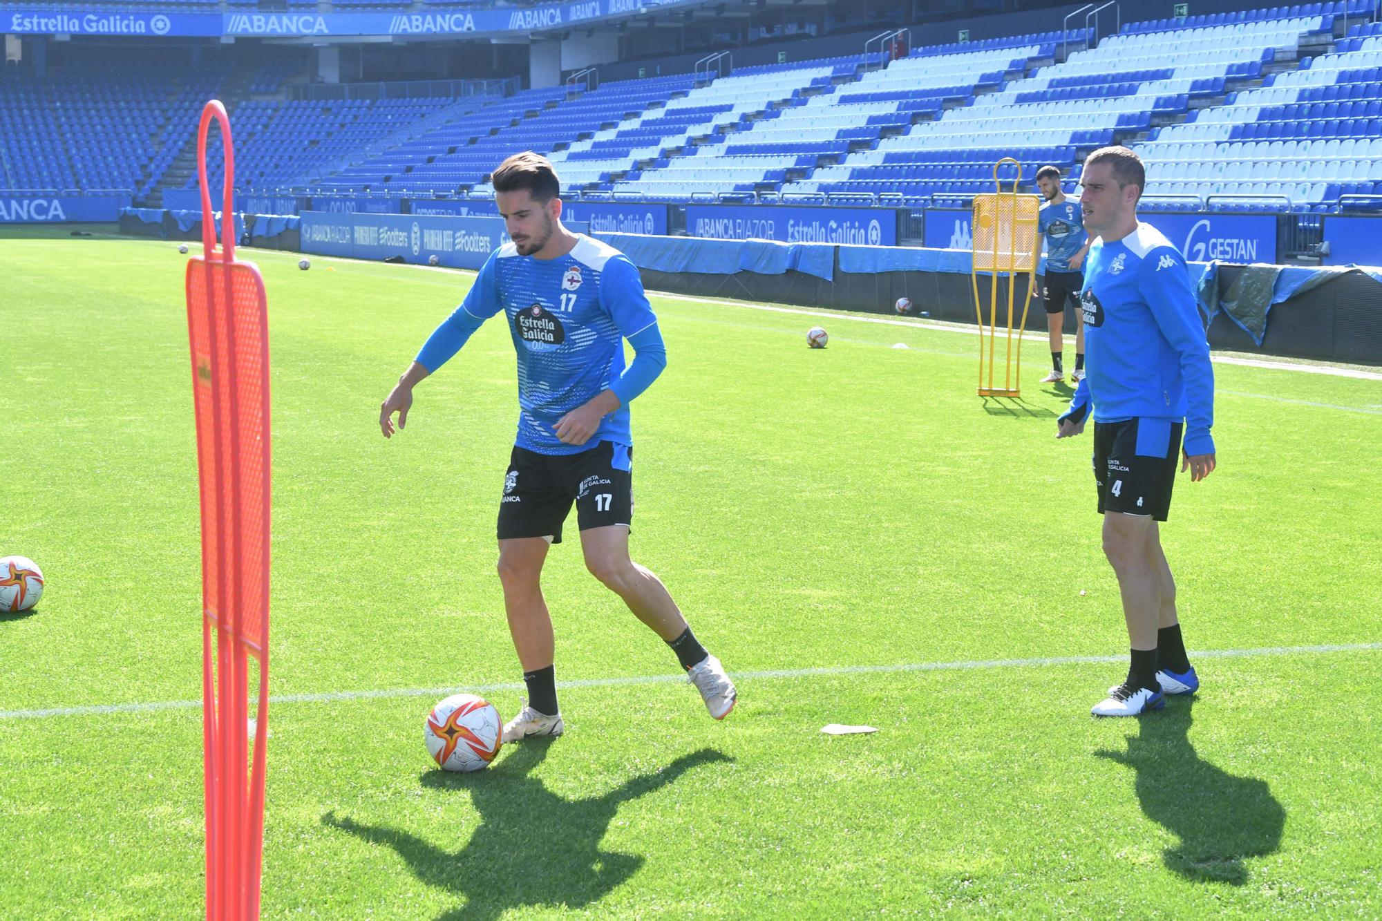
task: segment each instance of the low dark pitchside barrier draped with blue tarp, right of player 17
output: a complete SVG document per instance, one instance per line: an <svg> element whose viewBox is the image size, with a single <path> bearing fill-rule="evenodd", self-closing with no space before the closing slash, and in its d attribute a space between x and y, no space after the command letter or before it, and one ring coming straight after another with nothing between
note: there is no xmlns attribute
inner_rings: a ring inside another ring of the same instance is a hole
<svg viewBox="0 0 1382 921"><path fill-rule="evenodd" d="M600 234L650 290L893 315L900 297L933 319L974 322L972 253ZM1382 364L1382 268L1189 263L1215 348ZM1014 301L1030 275L1019 272ZM1007 300L1009 281L998 278ZM1045 311L1028 317L1045 329ZM1066 332L1074 333L1067 311Z"/></svg>

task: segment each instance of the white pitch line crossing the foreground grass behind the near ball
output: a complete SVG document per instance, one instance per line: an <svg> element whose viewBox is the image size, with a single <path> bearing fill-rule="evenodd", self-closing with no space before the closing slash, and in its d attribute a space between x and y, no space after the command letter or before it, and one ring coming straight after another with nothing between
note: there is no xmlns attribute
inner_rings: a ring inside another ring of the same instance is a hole
<svg viewBox="0 0 1382 921"><path fill-rule="evenodd" d="M1382 643L1343 643L1327 646L1266 646L1259 649L1220 649L1191 651L1195 658L1251 658L1259 655L1318 655L1324 653L1364 653L1382 650ZM900 672L954 672L990 668L1035 668L1042 665L1104 665L1126 662L1126 655L1057 655L1049 658L988 658L960 662L900 662L893 665L826 665L820 668L788 668L759 672L735 672L738 680L766 680L777 678L828 678L832 675L880 675ZM640 675L630 678L586 678L557 682L558 687L621 687L627 685L670 685L684 682L681 675ZM271 704L323 704L334 701L379 700L397 697L437 697L455 694L456 687L388 687L380 690L325 691L318 694L279 694ZM524 685L478 685L471 693L518 691ZM50 716L94 716L102 714L151 714L163 709L192 709L199 700L167 700L142 704L95 704L87 707L50 707L46 709L0 709L0 719L44 719Z"/></svg>

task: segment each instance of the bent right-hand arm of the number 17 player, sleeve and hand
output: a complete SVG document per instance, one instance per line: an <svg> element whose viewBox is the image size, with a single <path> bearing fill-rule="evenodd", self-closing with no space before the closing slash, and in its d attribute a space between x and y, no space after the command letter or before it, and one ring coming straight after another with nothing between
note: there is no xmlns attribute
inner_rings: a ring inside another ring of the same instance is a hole
<svg viewBox="0 0 1382 921"><path fill-rule="evenodd" d="M618 379L591 400L557 420L557 437L567 444L585 444L600 429L600 420L629 405L668 366L668 348L658 331L658 317L643 290L638 270L626 257L605 263L600 274L600 306L633 346L633 361Z"/></svg>

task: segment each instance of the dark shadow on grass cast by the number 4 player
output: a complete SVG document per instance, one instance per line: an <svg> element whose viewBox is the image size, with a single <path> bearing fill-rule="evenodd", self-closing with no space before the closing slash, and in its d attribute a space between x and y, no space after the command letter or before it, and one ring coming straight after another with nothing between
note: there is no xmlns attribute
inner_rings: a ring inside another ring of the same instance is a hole
<svg viewBox="0 0 1382 921"><path fill-rule="evenodd" d="M1285 809L1265 780L1238 777L1200 758L1190 744L1193 698L1171 700L1139 720L1128 751L1099 751L1137 772L1137 798L1148 819L1180 837L1162 855L1166 867L1195 881L1248 881L1244 860L1281 845Z"/></svg>

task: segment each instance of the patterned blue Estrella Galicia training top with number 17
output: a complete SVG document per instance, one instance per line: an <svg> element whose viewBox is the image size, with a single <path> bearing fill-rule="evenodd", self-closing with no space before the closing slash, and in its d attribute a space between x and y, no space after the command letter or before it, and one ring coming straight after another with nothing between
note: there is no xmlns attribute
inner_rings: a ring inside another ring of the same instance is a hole
<svg viewBox="0 0 1382 921"><path fill-rule="evenodd" d="M668 351L629 257L585 235L568 254L550 260L520 256L504 243L485 261L460 307L427 339L417 364L435 372L500 311L518 354L515 444L539 454L579 454L600 441L632 447L629 402L662 373ZM627 366L625 339L634 348ZM619 408L585 444L562 444L557 420L605 389L619 398Z"/></svg>

